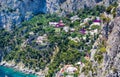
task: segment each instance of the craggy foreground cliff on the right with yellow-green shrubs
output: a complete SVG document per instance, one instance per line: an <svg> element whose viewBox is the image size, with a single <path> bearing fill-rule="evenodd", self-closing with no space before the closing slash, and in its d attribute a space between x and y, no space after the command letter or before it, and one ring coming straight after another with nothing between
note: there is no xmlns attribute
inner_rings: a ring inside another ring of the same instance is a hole
<svg viewBox="0 0 120 77"><path fill-rule="evenodd" d="M117 8L117 17L110 23L104 24L102 29L102 38L96 40L97 50L91 50L91 67L88 75L80 77L120 77L120 6ZM103 39L105 38L105 39ZM105 47L105 52L99 48L99 45ZM95 46L95 45L93 45ZM100 54L98 54L100 53ZM98 54L98 55L97 55ZM101 56L101 59L96 58ZM101 60L101 62L99 62ZM83 72L85 73L85 71ZM83 74L82 73L82 74Z"/></svg>

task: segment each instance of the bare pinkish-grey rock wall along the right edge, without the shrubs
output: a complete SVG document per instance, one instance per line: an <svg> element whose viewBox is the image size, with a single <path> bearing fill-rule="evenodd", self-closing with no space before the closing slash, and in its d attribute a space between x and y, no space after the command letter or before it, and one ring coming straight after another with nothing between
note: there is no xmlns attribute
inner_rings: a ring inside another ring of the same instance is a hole
<svg viewBox="0 0 120 77"><path fill-rule="evenodd" d="M109 70L108 77L120 77L120 17L117 17L109 25L111 33L107 40L107 53L109 56L108 65ZM112 27L111 27L112 26ZM111 71L111 72L110 72Z"/></svg>

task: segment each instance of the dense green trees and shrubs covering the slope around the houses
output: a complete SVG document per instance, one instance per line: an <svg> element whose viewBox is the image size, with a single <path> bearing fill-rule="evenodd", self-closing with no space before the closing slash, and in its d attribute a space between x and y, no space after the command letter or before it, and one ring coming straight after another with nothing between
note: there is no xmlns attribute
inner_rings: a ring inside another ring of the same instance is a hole
<svg viewBox="0 0 120 77"><path fill-rule="evenodd" d="M91 69L91 63L85 57L90 56L90 49L98 38L101 27L97 25L90 27L90 25L104 11L104 6L96 6L93 9L81 9L66 17L59 17L57 14L40 14L23 22L22 26L12 27L13 30L10 32L2 29L0 30L0 49L5 51L4 60L22 62L26 67L36 71L48 67L48 77L52 77L63 65L74 65L79 61L86 63L86 69ZM78 15L80 20L71 22L70 17L74 15ZM92 16L94 17L92 20L80 25L85 18ZM101 18L104 20L105 17L101 16ZM75 31L65 32L60 29L60 32L56 32L56 28L49 25L49 22L59 22L60 20L68 27L74 28ZM109 19L105 20L109 21ZM88 31L88 34L82 34L81 29ZM90 35L90 32L94 30L98 30L98 33ZM46 40L40 43L39 37L45 37ZM70 38L79 38L80 41L76 42ZM99 54L104 52L105 48L101 46L100 52L95 56L96 60L101 62L103 56L99 56Z"/></svg>

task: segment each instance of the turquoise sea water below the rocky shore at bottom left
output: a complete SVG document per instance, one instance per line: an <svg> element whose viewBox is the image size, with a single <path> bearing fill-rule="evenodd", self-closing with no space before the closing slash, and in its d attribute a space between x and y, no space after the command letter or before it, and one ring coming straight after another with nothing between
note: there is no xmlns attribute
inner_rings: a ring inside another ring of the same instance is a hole
<svg viewBox="0 0 120 77"><path fill-rule="evenodd" d="M0 66L0 77L37 77L32 74L24 74L12 68Z"/></svg>

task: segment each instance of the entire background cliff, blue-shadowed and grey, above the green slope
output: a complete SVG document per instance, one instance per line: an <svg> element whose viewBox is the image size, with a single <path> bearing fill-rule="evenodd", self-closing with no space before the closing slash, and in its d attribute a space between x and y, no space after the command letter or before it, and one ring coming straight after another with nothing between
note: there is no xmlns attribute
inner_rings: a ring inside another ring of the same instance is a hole
<svg viewBox="0 0 120 77"><path fill-rule="evenodd" d="M109 5L114 0L0 0L0 26L9 30L35 14L56 12L65 15L101 1Z"/></svg>

